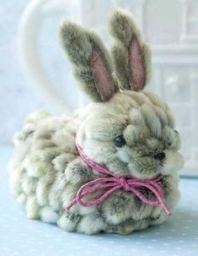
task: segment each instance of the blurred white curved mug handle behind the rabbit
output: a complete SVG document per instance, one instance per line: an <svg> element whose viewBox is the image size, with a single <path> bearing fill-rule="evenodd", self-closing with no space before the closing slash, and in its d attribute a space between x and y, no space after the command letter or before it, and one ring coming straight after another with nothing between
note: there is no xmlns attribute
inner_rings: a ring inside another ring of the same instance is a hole
<svg viewBox="0 0 198 256"><path fill-rule="evenodd" d="M46 10L44 12L45 3L47 2L49 3L49 0L32 0L24 9L19 23L19 52L24 73L45 95L45 100L53 102L58 112L72 112L72 106L69 106L62 94L56 90L40 60L37 41L42 22L47 13Z"/></svg>

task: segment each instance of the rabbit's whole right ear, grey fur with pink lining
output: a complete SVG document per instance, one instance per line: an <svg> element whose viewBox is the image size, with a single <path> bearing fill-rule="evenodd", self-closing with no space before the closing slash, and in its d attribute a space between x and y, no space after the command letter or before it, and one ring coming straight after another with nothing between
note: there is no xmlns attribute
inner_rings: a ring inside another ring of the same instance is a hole
<svg viewBox="0 0 198 256"><path fill-rule="evenodd" d="M150 79L151 52L131 15L116 10L110 17L110 34L116 39L112 56L120 88L142 90Z"/></svg>

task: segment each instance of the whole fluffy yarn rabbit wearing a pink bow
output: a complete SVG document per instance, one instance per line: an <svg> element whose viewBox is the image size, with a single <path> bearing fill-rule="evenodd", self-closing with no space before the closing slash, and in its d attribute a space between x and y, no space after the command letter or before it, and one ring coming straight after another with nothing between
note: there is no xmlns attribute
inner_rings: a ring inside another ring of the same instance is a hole
<svg viewBox="0 0 198 256"><path fill-rule="evenodd" d="M143 90L149 47L123 10L111 15L110 34L111 55L98 35L61 25L63 50L93 103L70 116L35 112L15 136L10 184L29 219L126 235L163 223L179 199L174 116Z"/></svg>

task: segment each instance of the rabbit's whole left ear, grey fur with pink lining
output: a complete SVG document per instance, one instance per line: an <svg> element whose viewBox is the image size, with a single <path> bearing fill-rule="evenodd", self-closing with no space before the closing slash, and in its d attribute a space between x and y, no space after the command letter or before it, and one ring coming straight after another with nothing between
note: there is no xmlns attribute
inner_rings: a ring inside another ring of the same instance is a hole
<svg viewBox="0 0 198 256"><path fill-rule="evenodd" d="M82 89L94 101L109 101L117 86L109 52L99 36L67 20L60 32L63 49Z"/></svg>

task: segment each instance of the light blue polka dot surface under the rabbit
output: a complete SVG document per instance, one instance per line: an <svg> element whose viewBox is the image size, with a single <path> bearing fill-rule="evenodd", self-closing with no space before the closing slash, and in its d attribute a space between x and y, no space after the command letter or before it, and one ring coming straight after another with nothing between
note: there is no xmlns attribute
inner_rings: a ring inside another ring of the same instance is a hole
<svg viewBox="0 0 198 256"><path fill-rule="evenodd" d="M87 236L30 221L8 192L11 147L0 147L0 256L198 255L198 179L181 178L181 199L161 226L130 236Z"/></svg>

